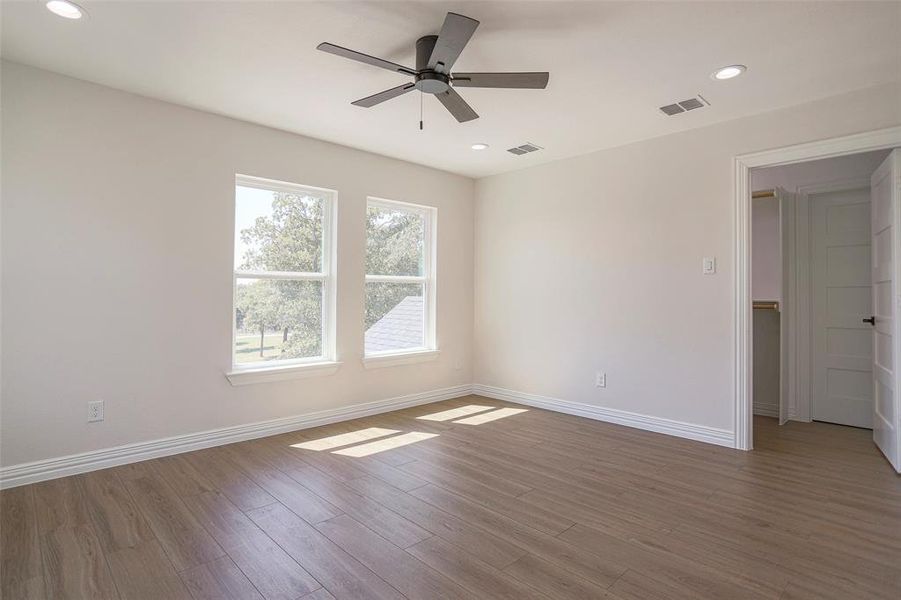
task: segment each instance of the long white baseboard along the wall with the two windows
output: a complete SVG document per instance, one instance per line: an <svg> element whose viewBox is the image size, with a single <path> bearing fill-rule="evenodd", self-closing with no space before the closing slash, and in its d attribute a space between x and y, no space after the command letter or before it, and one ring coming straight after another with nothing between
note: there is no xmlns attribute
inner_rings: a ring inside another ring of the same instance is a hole
<svg viewBox="0 0 901 600"><path fill-rule="evenodd" d="M410 406L459 398L460 396L466 396L471 393L471 385L458 385L428 392L398 396L396 398L388 398L387 400L377 400L375 402L365 402L363 404L355 404L353 406L332 410L323 410L305 415L272 419L270 421L260 421L258 423L225 427L211 431L202 431L200 433L189 433L187 435L179 435L161 440L139 442L137 444L128 444L103 450L93 450L91 452L72 454L60 458L50 458L19 465L11 465L0 469L0 489L37 483L48 479L56 479L57 477L76 475L78 473L86 473L88 471L96 471L107 467L115 467L151 458L158 458L160 456L180 454L191 450L199 450L201 448L210 448L212 446L221 446L223 444L231 444L233 442L241 442L278 433L318 427L319 425L337 423L338 421L358 419L360 417L399 410Z"/></svg>

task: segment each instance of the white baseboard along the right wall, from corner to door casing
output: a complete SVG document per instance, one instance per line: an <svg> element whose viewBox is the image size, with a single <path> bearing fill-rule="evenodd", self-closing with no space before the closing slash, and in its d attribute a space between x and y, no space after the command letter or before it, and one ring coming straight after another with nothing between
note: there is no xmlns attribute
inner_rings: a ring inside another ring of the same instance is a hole
<svg viewBox="0 0 901 600"><path fill-rule="evenodd" d="M705 425L673 421L671 419L652 417L625 410L603 408L601 406L592 406L581 402L570 402L568 400L539 396L537 394L527 394L525 392L517 392L479 383L472 386L472 393L488 398L495 398L497 400L506 400L508 402L525 404L526 406L562 412L568 415L576 415L579 417L595 419L597 421L625 425L626 427L644 429L645 431L654 431L656 433L665 433L666 435L674 435L689 440L707 442L708 444L716 444L717 446L726 446L727 448L735 447L735 436L731 431L726 429L716 429Z"/></svg>

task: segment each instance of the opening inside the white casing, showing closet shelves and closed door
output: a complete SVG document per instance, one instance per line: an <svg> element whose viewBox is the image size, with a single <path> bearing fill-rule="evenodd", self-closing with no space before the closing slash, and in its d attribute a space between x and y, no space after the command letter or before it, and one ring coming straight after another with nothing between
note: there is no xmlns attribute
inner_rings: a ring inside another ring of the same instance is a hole
<svg viewBox="0 0 901 600"><path fill-rule="evenodd" d="M751 171L755 416L872 429L870 176L888 154Z"/></svg>

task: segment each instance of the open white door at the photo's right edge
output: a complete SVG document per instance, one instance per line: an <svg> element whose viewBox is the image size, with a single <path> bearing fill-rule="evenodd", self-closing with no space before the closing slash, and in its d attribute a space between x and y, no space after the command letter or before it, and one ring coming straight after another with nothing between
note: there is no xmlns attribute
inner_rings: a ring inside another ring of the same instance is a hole
<svg viewBox="0 0 901 600"><path fill-rule="evenodd" d="M901 472L901 409L898 361L901 360L901 306L898 254L901 219L901 150L893 150L870 179L873 199L873 441L896 471Z"/></svg>

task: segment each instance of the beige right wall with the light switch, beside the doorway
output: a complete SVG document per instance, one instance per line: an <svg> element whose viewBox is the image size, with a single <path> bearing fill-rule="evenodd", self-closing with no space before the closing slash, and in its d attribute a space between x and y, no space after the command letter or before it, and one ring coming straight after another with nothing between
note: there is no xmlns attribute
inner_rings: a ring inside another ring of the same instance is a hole
<svg viewBox="0 0 901 600"><path fill-rule="evenodd" d="M882 86L477 181L476 382L731 430L732 158L898 124Z"/></svg>

